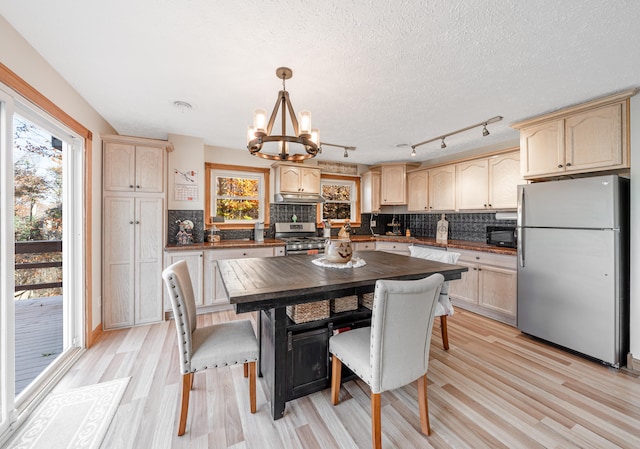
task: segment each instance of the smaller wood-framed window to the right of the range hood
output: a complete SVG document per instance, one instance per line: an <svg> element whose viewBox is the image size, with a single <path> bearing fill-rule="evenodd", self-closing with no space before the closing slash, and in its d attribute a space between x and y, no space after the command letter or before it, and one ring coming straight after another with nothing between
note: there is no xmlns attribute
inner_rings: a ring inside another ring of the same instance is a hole
<svg viewBox="0 0 640 449"><path fill-rule="evenodd" d="M322 175L320 189L322 219L358 225L360 222L360 178L339 175Z"/></svg>

